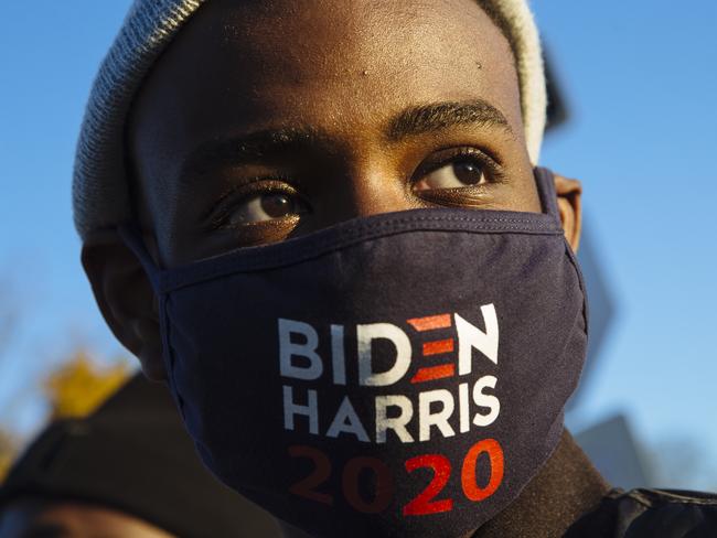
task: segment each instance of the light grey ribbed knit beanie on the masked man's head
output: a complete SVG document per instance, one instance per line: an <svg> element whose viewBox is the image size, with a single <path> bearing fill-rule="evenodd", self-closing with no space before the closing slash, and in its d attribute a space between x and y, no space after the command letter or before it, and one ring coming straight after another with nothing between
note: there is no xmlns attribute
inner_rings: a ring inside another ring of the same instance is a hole
<svg viewBox="0 0 717 538"><path fill-rule="evenodd" d="M75 227L83 239L131 215L124 132L132 98L162 50L204 2L136 0L100 65L83 121L73 179ZM546 88L528 0L478 0L507 37L517 68L528 154L538 163Z"/></svg>

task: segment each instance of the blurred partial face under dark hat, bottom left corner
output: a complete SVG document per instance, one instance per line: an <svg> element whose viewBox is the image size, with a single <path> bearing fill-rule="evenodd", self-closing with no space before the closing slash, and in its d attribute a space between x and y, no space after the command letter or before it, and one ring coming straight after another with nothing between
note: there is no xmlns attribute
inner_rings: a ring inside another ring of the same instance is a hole
<svg viewBox="0 0 717 538"><path fill-rule="evenodd" d="M136 517L78 503L23 499L0 518L0 538L171 538L172 535Z"/></svg>

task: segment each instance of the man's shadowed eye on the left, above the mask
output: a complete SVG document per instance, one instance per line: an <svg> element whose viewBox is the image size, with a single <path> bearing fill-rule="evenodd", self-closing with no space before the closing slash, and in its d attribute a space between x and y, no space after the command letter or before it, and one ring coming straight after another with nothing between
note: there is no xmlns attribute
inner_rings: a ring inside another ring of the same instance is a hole
<svg viewBox="0 0 717 538"><path fill-rule="evenodd" d="M307 205L290 185L259 181L226 195L213 222L216 227L231 228L296 218L307 211Z"/></svg>

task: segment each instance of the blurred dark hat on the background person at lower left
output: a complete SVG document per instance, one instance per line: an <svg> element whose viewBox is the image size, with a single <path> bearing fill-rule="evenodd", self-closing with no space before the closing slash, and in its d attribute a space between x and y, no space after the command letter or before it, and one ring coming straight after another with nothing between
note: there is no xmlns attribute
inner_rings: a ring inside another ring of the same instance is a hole
<svg viewBox="0 0 717 538"><path fill-rule="evenodd" d="M141 374L89 417L40 433L0 486L0 513L26 496L111 508L182 538L280 536L210 474L169 390Z"/></svg>

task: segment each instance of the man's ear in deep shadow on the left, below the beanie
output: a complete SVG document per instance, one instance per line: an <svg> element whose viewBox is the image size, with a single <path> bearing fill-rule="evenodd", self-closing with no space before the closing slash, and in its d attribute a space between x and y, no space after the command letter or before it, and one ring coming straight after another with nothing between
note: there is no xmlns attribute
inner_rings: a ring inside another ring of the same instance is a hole
<svg viewBox="0 0 717 538"><path fill-rule="evenodd" d="M103 229L85 240L82 265L117 340L139 358L148 378L165 379L158 303L135 254L116 229Z"/></svg>

